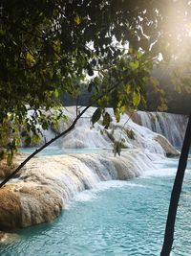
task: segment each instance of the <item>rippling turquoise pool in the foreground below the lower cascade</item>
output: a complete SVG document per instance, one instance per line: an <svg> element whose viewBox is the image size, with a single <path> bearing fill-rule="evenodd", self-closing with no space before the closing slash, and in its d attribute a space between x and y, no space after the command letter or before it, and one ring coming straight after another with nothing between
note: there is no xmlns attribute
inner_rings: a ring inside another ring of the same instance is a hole
<svg viewBox="0 0 191 256"><path fill-rule="evenodd" d="M162 244L177 160L130 181L107 181L78 194L55 221L12 234L1 256L156 256ZM191 159L171 255L191 255Z"/></svg>

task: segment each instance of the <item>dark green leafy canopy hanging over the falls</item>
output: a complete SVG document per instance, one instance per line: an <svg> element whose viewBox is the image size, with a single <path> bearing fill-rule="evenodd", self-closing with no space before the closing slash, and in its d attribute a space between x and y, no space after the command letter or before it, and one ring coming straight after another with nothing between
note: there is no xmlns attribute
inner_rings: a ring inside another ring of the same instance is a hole
<svg viewBox="0 0 191 256"><path fill-rule="evenodd" d="M99 107L93 123L101 112L109 126L108 105L117 121L127 108L145 105L150 69L170 45L165 6L164 0L2 1L0 146L8 159L19 130L26 144L38 140L36 124L46 129L62 116L47 118L44 110L59 107L62 93L77 99L87 77L89 103Z"/></svg>

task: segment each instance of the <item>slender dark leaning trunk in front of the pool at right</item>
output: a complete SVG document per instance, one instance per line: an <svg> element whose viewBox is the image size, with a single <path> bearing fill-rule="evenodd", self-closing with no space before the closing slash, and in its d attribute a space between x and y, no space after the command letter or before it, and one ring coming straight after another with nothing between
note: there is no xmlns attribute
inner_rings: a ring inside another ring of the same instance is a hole
<svg viewBox="0 0 191 256"><path fill-rule="evenodd" d="M166 221L166 228L165 228L165 234L164 234L164 241L163 241L162 249L160 252L160 256L169 256L172 249L177 209L178 209L181 186L182 186L183 176L186 169L190 145L191 145L191 114L189 116L189 121L186 128L184 140L183 140L183 146L180 153L180 160L179 160L177 175L175 177L175 182L174 182L174 186L171 194L168 217Z"/></svg>

